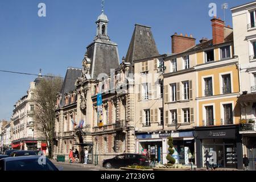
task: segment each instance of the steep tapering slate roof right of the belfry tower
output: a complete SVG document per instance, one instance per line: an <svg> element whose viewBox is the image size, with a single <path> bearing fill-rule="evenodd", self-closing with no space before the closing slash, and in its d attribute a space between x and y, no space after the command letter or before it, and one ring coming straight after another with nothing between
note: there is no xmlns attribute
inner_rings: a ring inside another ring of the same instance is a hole
<svg viewBox="0 0 256 182"><path fill-rule="evenodd" d="M126 62L133 64L134 60L154 56L159 56L159 52L151 32L151 27L135 24L133 37L126 54Z"/></svg>

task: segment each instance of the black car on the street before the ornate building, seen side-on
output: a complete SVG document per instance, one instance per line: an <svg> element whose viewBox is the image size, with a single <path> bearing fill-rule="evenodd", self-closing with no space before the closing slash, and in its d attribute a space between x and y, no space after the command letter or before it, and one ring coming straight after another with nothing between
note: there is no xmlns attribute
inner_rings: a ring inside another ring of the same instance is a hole
<svg viewBox="0 0 256 182"><path fill-rule="evenodd" d="M121 154L112 159L103 161L102 166L105 168L119 168L127 166L149 166L150 163L144 155L140 154Z"/></svg>

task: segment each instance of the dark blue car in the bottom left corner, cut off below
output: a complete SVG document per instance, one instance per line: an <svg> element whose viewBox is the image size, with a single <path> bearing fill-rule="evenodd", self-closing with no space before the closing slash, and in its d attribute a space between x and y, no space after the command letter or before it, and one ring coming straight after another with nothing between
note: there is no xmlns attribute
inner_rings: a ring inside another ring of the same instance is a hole
<svg viewBox="0 0 256 182"><path fill-rule="evenodd" d="M0 160L0 171L59 171L47 158L42 156L20 156Z"/></svg>

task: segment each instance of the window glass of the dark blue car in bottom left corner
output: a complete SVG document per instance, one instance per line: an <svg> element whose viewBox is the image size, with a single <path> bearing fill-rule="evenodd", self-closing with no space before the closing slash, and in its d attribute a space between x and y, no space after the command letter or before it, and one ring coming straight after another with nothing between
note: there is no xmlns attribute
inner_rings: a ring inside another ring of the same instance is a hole
<svg viewBox="0 0 256 182"><path fill-rule="evenodd" d="M40 159L13 160L6 163L7 171L57 171L57 168L46 159L46 164L39 164Z"/></svg>

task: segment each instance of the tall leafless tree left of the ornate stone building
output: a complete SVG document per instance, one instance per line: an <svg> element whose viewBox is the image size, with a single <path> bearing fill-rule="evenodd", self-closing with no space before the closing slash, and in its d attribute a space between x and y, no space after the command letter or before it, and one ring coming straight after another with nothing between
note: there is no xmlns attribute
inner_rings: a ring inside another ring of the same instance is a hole
<svg viewBox="0 0 256 182"><path fill-rule="evenodd" d="M49 158L53 157L56 95L62 83L62 78L48 75L36 85L34 93L34 125L38 133L46 138Z"/></svg>

